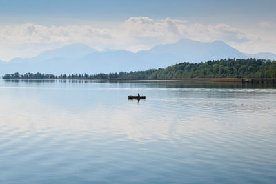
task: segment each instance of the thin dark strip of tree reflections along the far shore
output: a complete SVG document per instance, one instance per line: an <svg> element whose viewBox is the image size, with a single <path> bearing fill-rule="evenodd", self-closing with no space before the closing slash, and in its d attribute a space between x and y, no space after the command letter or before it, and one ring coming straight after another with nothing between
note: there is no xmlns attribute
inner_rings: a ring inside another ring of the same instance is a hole
<svg viewBox="0 0 276 184"><path fill-rule="evenodd" d="M26 83L32 83L32 85L45 85L44 83L93 83L93 84L105 84L105 85L117 85L117 86L129 86L131 88L252 88L252 89L275 89L276 85L274 83L234 83L234 82L210 82L210 81L147 81L147 80L139 80L139 81L132 81L132 80L78 80L78 79L67 79L67 80L40 80L40 79L6 79L3 80L6 85L10 83L11 85L26 85Z"/></svg>

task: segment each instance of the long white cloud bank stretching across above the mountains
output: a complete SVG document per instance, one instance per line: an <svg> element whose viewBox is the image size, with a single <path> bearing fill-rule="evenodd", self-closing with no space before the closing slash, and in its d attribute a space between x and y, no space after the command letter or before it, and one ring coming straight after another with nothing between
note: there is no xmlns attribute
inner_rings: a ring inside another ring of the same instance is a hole
<svg viewBox="0 0 276 184"><path fill-rule="evenodd" d="M259 27L270 27L265 22ZM71 43L84 43L92 48L125 49L137 52L158 44L175 43L181 38L197 41L221 40L243 52L259 52L268 49L276 52L274 29L266 32L241 30L226 24L189 24L184 20L149 17L130 17L112 28L97 28L92 25L45 26L26 23L0 27L0 59L33 57L43 50L59 48ZM258 41L254 43L254 41ZM250 43L250 45L249 45ZM252 45L253 44L253 45ZM269 45L269 46L268 46ZM270 48L270 49L269 49Z"/></svg>

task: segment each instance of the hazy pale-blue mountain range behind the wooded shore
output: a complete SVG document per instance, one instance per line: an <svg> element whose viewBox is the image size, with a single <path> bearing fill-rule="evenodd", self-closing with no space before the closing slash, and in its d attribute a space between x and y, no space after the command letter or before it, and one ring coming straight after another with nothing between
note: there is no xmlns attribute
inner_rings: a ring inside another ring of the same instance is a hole
<svg viewBox="0 0 276 184"><path fill-rule="evenodd" d="M1 57L1 56L0 56ZM180 62L199 63L208 60L248 58L276 60L276 54L262 52L244 54L223 41L203 43L181 39L175 44L157 45L137 53L126 50L97 51L83 44L66 45L63 48L46 50L32 58L14 58L0 61L0 74L19 72L44 72L72 74L99 72L129 72L163 68Z"/></svg>

